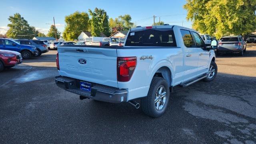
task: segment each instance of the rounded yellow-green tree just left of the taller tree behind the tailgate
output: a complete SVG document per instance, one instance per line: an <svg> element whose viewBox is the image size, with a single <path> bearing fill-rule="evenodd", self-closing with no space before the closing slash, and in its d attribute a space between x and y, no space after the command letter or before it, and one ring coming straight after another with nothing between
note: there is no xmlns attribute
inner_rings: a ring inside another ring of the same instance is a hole
<svg viewBox="0 0 256 144"><path fill-rule="evenodd" d="M75 40L81 34L81 31L88 31L89 16L86 12L74 12L65 16L66 26L63 32L65 40Z"/></svg>

